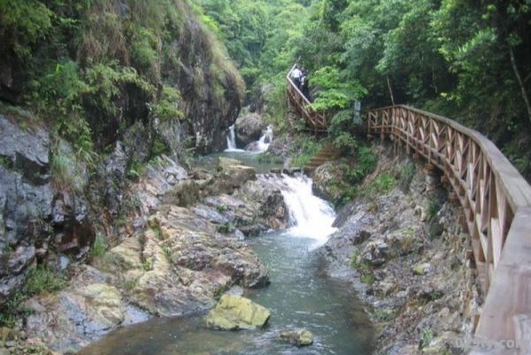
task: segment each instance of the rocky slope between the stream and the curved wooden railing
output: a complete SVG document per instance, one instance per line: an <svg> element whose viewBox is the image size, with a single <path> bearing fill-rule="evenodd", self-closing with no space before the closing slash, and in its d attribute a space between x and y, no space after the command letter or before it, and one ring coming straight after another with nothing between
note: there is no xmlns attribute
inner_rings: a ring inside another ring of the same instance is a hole
<svg viewBox="0 0 531 355"><path fill-rule="evenodd" d="M412 164L381 150L376 171L360 188L372 193L342 208L338 230L321 252L327 272L356 285L379 326L377 353L464 353L458 345L471 338L481 302L466 259L464 216L437 177L420 166L408 172ZM375 182L382 174L396 181L388 191Z"/></svg>

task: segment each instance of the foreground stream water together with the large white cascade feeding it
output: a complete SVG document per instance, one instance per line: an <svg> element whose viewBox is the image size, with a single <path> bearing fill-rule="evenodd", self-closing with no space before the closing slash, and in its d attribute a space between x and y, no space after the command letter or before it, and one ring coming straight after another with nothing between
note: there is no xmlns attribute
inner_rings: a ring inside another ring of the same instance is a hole
<svg viewBox="0 0 531 355"><path fill-rule="evenodd" d="M264 329L224 332L204 328L203 316L156 319L119 328L80 355L369 355L373 329L350 284L322 272L317 249L334 228L330 205L312 195L309 179L276 177L293 227L250 239L268 267L271 285L246 297L271 312ZM305 327L314 343L296 348L279 340Z"/></svg>

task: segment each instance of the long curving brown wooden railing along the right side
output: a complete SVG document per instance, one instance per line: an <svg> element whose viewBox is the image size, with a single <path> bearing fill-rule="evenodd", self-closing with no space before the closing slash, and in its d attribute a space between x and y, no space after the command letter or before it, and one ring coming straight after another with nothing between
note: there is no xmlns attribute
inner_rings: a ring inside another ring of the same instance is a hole
<svg viewBox="0 0 531 355"><path fill-rule="evenodd" d="M473 258L486 292L475 331L485 343L471 354L531 354L527 181L494 143L453 120L404 105L367 112L366 118L370 135L389 136L441 169L465 211ZM496 351L489 351L488 344L496 344Z"/></svg>

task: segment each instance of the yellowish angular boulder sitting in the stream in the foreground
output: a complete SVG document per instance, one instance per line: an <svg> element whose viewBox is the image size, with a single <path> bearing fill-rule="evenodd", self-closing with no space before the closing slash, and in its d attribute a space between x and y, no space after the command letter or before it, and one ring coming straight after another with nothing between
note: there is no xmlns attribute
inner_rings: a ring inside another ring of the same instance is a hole
<svg viewBox="0 0 531 355"><path fill-rule="evenodd" d="M269 316L265 307L249 298L226 294L206 316L206 325L222 330L254 329L264 327Z"/></svg>

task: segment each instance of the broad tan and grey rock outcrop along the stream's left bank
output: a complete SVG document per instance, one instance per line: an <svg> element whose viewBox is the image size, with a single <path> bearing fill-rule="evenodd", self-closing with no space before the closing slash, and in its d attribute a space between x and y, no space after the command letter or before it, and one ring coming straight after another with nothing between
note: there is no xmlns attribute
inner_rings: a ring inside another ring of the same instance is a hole
<svg viewBox="0 0 531 355"><path fill-rule="evenodd" d="M243 238L286 227L288 213L281 191L253 168L220 158L215 172L189 172L163 158L131 190L136 209L116 246L71 266L58 294L25 302L30 343L76 351L119 326L204 312L233 285L269 282Z"/></svg>

